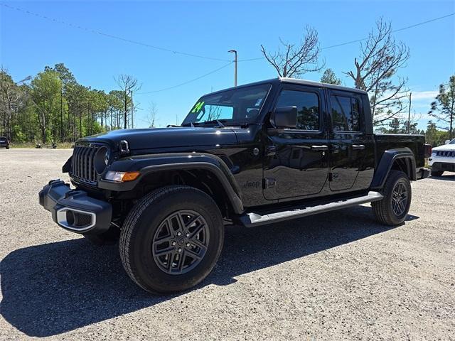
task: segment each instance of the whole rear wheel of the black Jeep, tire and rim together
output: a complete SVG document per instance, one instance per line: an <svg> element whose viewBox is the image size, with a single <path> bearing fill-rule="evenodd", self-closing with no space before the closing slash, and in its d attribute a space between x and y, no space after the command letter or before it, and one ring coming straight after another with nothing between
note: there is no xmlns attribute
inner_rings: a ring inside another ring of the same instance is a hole
<svg viewBox="0 0 455 341"><path fill-rule="evenodd" d="M396 226L405 221L411 206L411 183L402 171L390 171L382 190L384 198L372 202L376 219L382 224Z"/></svg>

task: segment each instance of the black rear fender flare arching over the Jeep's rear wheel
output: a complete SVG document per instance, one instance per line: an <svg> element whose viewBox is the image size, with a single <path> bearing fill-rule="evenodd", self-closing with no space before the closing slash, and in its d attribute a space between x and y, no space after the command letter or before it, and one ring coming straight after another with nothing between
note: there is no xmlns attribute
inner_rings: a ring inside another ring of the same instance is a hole
<svg viewBox="0 0 455 341"><path fill-rule="evenodd" d="M378 166L375 170L375 175L373 175L373 180L371 181L370 188L372 190L380 190L384 187L385 180L392 169L392 165L397 159L405 159L407 163L408 174L407 176L410 180L416 180L416 166L415 166L415 157L410 148L394 148L387 149L382 154Z"/></svg>

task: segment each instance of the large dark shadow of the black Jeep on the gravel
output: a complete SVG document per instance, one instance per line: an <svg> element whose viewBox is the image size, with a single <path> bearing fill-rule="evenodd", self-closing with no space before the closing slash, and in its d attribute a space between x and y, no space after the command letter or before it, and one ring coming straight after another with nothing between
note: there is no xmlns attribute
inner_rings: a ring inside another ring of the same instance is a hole
<svg viewBox="0 0 455 341"><path fill-rule="evenodd" d="M418 217L410 215L408 220ZM388 229L370 207L245 229L228 227L215 270L199 286L235 283L235 276L298 259ZM75 330L186 293L154 296L125 274L117 246L85 239L12 251L1 261L1 314L26 335L46 337Z"/></svg>

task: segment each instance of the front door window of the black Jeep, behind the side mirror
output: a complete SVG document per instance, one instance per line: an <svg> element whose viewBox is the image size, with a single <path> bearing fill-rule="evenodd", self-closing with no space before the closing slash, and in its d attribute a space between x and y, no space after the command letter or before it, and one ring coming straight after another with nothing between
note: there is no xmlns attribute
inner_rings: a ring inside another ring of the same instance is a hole
<svg viewBox="0 0 455 341"><path fill-rule="evenodd" d="M277 107L297 107L299 130L319 130L319 97L314 92L283 90Z"/></svg>

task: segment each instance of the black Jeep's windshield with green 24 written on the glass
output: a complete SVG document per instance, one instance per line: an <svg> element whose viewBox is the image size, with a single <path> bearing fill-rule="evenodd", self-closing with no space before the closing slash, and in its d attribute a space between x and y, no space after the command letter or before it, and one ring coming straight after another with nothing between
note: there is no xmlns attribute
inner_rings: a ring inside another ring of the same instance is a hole
<svg viewBox="0 0 455 341"><path fill-rule="evenodd" d="M251 123L259 114L269 90L270 85L263 84L208 94L194 104L182 126Z"/></svg>

